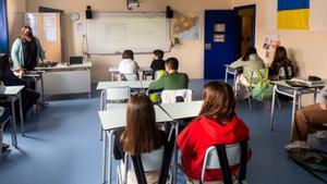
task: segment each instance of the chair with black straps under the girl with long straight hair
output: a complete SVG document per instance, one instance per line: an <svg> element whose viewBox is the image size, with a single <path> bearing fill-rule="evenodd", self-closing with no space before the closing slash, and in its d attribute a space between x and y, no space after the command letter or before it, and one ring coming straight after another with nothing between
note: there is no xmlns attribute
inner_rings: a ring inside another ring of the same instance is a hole
<svg viewBox="0 0 327 184"><path fill-rule="evenodd" d="M169 133L168 144L152 152L143 152L130 156L125 154L124 177L118 169L121 184L128 181L129 160L132 159L133 169L138 184L146 184L145 172L160 170L158 184L166 184L169 173L170 161L175 142L175 128L172 126ZM161 159L159 159L161 158Z"/></svg>

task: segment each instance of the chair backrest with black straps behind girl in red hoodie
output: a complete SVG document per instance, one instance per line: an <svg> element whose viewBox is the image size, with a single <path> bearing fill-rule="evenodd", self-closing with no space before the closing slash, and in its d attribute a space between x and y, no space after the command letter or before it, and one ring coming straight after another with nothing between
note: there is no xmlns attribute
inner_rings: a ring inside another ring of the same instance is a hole
<svg viewBox="0 0 327 184"><path fill-rule="evenodd" d="M245 180L247 161L247 140L242 140L233 145L215 145L206 150L203 169L201 173L201 183L204 183L207 169L221 169L225 184L232 184L232 176L229 168L240 164L238 180Z"/></svg>

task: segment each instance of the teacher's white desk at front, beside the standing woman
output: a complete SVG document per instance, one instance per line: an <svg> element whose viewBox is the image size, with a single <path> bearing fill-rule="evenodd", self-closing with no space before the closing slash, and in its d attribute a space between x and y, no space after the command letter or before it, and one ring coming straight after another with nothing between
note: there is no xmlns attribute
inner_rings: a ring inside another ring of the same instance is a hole
<svg viewBox="0 0 327 184"><path fill-rule="evenodd" d="M90 97L92 62L72 65L59 63L52 68L35 70L46 71L43 75L46 96L87 93Z"/></svg>

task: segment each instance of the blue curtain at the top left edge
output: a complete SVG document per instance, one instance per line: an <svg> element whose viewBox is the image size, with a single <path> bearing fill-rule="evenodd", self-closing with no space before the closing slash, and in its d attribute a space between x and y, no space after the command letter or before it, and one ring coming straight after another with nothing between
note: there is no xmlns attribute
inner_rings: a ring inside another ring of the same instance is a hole
<svg viewBox="0 0 327 184"><path fill-rule="evenodd" d="M0 0L0 53L9 53L7 0Z"/></svg>

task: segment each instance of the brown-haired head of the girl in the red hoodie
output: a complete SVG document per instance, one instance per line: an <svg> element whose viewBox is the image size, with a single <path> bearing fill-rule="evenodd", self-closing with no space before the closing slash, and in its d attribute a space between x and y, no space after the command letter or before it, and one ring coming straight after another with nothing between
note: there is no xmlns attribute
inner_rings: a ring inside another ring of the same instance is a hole
<svg viewBox="0 0 327 184"><path fill-rule="evenodd" d="M210 82L204 87L204 103L199 116L205 115L227 123L235 115L235 98L232 88L222 82Z"/></svg>

